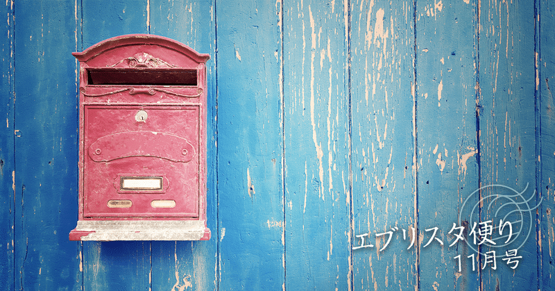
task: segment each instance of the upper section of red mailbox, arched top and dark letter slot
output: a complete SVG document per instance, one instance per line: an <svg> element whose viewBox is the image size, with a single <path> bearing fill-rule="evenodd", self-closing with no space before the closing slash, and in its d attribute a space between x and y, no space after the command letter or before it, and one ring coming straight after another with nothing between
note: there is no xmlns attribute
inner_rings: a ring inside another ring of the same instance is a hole
<svg viewBox="0 0 555 291"><path fill-rule="evenodd" d="M157 35L121 35L73 53L85 103L205 102L210 58Z"/></svg>

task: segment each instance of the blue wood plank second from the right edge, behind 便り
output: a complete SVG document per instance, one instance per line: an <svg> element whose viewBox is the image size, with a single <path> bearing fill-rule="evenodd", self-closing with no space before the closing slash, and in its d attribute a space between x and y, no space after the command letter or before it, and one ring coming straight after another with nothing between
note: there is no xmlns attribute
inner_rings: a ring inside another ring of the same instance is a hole
<svg viewBox="0 0 555 291"><path fill-rule="evenodd" d="M534 6L531 3L507 1L479 2L479 142L481 185L501 184L524 192L529 198L536 188L536 128L535 128L535 80L534 80ZM481 192L481 197L495 197L492 188ZM502 193L510 194L510 193ZM536 199L532 200L532 203ZM495 216L499 202L488 209L488 199L481 208L481 222L495 219L499 223L505 213ZM535 205L532 205L532 207ZM524 215L524 225L530 223ZM526 243L518 249L522 256L513 272L506 263L497 258L497 270L481 258L481 284L484 290L536 289L538 278L536 210L529 238L528 226L522 229ZM527 220L526 220L527 219ZM482 248L496 251L502 256L505 249Z"/></svg>

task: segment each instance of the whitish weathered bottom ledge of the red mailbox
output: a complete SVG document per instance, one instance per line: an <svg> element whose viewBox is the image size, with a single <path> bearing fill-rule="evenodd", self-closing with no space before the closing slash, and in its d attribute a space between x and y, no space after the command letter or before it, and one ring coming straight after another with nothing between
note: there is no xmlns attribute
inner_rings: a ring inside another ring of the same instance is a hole
<svg viewBox="0 0 555 291"><path fill-rule="evenodd" d="M69 240L210 240L210 229L203 220L80 220Z"/></svg>

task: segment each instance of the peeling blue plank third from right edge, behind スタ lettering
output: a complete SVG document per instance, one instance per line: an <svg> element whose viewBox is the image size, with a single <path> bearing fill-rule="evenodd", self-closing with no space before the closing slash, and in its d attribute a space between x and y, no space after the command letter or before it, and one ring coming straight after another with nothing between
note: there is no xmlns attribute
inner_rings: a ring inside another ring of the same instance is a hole
<svg viewBox="0 0 555 291"><path fill-rule="evenodd" d="M449 234L454 224L465 226L457 218L464 201L479 188L477 11L475 1L466 2L418 1L416 7L421 290L479 288L479 272L472 272L468 259L474 251L460 240L450 247L459 231ZM477 215L461 217L462 222L470 219L476 221ZM460 268L456 256L460 256Z"/></svg>

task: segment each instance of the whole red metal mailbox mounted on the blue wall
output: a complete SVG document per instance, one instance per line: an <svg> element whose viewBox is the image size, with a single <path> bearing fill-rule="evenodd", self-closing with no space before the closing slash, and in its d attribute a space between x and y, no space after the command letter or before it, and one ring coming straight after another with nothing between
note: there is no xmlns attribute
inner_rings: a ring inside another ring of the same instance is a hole
<svg viewBox="0 0 555 291"><path fill-rule="evenodd" d="M155 35L80 62L79 219L70 240L208 240L207 54Z"/></svg>

